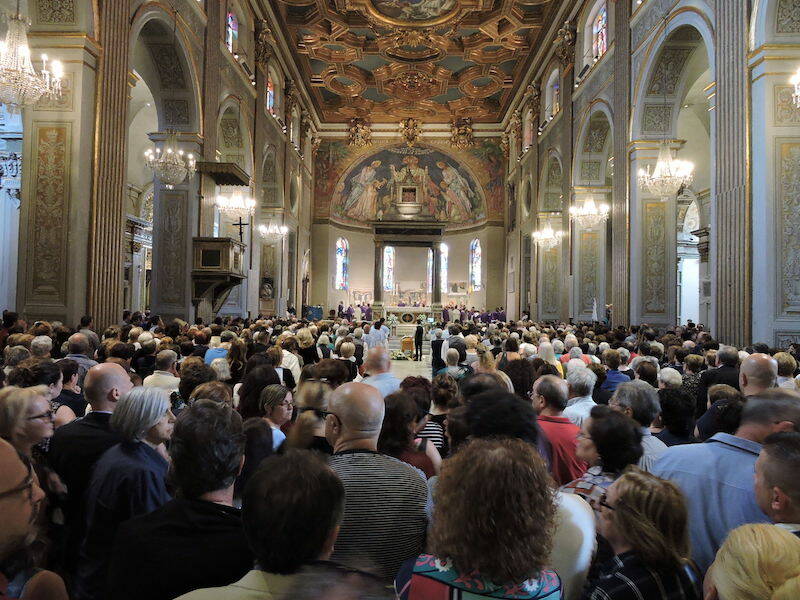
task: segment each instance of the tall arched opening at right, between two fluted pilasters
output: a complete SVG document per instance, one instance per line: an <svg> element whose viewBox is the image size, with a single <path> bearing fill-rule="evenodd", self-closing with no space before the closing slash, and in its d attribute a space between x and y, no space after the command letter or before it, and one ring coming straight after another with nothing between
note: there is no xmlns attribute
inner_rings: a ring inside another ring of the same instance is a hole
<svg viewBox="0 0 800 600"><path fill-rule="evenodd" d="M655 165L667 143L694 165L692 182L670 198L631 187L631 321L674 325L695 319L713 326L715 257L712 222L715 155L713 48L703 21L680 13L653 42L633 113L631 173ZM635 180L634 180L635 182ZM692 203L695 208L689 209ZM687 219L695 214L697 220ZM688 231L686 225L695 229ZM696 265L695 265L696 261ZM697 321L695 321L697 322Z"/></svg>

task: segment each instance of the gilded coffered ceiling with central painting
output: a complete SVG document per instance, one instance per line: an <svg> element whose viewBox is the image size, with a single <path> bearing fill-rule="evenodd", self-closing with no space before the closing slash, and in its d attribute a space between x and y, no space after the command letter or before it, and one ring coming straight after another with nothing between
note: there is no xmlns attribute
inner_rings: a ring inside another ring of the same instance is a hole
<svg viewBox="0 0 800 600"><path fill-rule="evenodd" d="M323 120L499 121L551 0L272 0Z"/></svg>

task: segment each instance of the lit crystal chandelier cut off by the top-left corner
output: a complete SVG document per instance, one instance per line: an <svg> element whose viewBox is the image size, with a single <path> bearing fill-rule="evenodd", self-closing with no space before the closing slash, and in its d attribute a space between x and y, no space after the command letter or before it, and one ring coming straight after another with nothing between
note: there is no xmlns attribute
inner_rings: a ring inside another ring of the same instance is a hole
<svg viewBox="0 0 800 600"><path fill-rule="evenodd" d="M54 60L48 69L47 55L42 54L42 71L36 72L28 46L28 25L17 0L17 12L8 16L6 39L0 46L0 103L10 113L18 113L42 98L61 95L64 67Z"/></svg>

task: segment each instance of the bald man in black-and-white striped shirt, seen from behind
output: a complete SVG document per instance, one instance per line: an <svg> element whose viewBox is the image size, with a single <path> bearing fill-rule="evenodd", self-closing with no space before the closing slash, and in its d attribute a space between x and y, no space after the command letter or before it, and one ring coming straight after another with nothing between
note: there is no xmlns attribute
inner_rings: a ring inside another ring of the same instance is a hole
<svg viewBox="0 0 800 600"><path fill-rule="evenodd" d="M336 388L325 418L334 449L330 465L345 489L345 509L332 560L367 569L387 582L423 549L428 486L408 463L378 452L381 393L364 383Z"/></svg>

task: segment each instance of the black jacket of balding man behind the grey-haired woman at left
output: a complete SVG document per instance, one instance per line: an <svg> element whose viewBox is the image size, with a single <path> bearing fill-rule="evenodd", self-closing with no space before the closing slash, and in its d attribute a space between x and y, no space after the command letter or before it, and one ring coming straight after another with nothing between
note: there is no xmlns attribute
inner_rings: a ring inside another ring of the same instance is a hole
<svg viewBox="0 0 800 600"><path fill-rule="evenodd" d="M68 491L64 514L65 559L70 571L77 565L84 531L84 496L94 465L106 450L122 441L122 436L111 431L110 420L110 413L90 412L56 429L50 440L47 460Z"/></svg>

